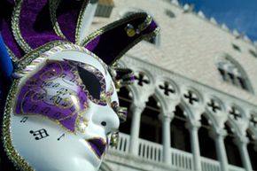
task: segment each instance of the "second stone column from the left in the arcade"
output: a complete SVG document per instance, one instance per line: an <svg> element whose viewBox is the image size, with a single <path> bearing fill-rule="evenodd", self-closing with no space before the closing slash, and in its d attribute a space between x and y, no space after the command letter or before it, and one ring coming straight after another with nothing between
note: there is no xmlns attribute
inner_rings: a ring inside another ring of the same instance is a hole
<svg viewBox="0 0 257 171"><path fill-rule="evenodd" d="M162 145L163 145L163 162L171 165L171 152L170 152L170 121L171 118L167 114L162 115Z"/></svg>

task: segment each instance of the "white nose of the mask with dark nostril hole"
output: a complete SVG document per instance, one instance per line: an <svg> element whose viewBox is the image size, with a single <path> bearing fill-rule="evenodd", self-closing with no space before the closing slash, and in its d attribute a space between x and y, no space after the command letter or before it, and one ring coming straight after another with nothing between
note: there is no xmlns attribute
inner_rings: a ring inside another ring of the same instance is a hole
<svg viewBox="0 0 257 171"><path fill-rule="evenodd" d="M96 110L92 114L92 121L97 126L105 129L105 134L117 130L120 126L120 120L117 113L114 113L109 105L97 105Z"/></svg>

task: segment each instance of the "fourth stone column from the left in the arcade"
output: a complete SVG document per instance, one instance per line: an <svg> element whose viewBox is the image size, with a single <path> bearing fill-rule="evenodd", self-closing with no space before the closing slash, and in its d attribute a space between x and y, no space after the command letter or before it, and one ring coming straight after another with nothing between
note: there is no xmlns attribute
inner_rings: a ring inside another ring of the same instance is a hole
<svg viewBox="0 0 257 171"><path fill-rule="evenodd" d="M229 171L227 152L224 144L224 138L227 136L227 131L223 128L220 128L212 131L210 135L214 138L215 141L217 157L220 161L221 170Z"/></svg>

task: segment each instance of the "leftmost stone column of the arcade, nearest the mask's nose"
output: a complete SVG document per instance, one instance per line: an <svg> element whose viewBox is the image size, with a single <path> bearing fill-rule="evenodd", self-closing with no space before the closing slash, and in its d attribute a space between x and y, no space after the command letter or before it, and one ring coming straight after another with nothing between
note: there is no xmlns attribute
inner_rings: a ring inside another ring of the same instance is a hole
<svg viewBox="0 0 257 171"><path fill-rule="evenodd" d="M145 107L144 105L135 105L130 106L130 111L132 112L132 123L130 128L130 140L129 140L129 152L133 155L138 155L138 140L139 140L139 131L140 131L140 120L141 113Z"/></svg>

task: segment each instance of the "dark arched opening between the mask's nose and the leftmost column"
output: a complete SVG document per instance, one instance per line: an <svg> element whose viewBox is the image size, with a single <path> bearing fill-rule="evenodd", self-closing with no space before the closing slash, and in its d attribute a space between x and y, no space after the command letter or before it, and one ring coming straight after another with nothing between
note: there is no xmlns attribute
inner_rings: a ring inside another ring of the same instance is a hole
<svg viewBox="0 0 257 171"><path fill-rule="evenodd" d="M119 130L122 133L130 135L132 113L129 111L129 107L132 103L132 99L131 99L131 97L129 97L129 91L126 87L122 87L118 91L118 96L119 96L120 106L128 108L127 120L125 122L121 123Z"/></svg>

